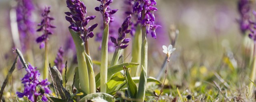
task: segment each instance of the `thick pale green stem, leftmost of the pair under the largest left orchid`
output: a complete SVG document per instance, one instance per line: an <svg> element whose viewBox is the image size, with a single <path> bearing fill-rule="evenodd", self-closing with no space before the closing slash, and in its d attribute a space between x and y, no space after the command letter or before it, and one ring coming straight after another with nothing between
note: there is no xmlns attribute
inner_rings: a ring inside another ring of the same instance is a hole
<svg viewBox="0 0 256 102"><path fill-rule="evenodd" d="M88 69L86 64L86 52L84 48L84 41L79 36L78 33L73 31L72 29L69 29L73 41L76 45L76 56L77 56L77 62L78 62L78 73L80 78L80 86L81 89L86 92L86 94L90 93L89 88L89 77L88 77Z"/></svg>

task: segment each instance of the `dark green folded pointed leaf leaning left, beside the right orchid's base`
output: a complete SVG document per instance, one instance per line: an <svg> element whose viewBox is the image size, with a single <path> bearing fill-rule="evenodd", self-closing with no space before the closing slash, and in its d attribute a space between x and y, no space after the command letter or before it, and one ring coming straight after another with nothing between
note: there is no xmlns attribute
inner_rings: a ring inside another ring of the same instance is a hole
<svg viewBox="0 0 256 102"><path fill-rule="evenodd" d="M136 98L137 96L137 93L138 93L138 88L136 86L136 84L134 83L134 81L132 80L132 77L129 73L129 70L128 68L124 67L125 69L125 80L126 80L126 84L128 86L128 95L131 97L131 98Z"/></svg>

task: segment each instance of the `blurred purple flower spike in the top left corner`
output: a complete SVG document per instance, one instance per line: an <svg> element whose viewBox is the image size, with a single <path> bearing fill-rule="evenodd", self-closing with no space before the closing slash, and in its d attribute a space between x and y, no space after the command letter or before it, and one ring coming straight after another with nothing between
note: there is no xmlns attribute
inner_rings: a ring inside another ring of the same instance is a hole
<svg viewBox="0 0 256 102"><path fill-rule="evenodd" d="M23 50L27 47L26 43L31 36L29 34L35 33L34 21L32 19L33 10L34 4L32 0L18 0L16 16Z"/></svg>

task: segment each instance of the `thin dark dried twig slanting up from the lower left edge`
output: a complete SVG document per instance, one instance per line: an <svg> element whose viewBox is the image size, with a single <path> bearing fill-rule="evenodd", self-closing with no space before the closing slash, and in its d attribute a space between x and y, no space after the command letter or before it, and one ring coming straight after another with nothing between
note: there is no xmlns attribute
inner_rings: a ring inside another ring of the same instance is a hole
<svg viewBox="0 0 256 102"><path fill-rule="evenodd" d="M1 87L1 90L0 90L0 100L2 99L3 92L4 92L4 88L5 88L6 84L8 83L8 80L9 80L9 78L11 77L12 72L13 72L14 69L15 69L15 65L16 65L17 61L18 61L18 55L16 56L16 58L15 58L15 60L14 60L14 63L12 64L12 67L11 67L11 69L10 69L8 75L6 76L6 78L5 78L5 80L4 80L4 83L3 83L2 87Z"/></svg>

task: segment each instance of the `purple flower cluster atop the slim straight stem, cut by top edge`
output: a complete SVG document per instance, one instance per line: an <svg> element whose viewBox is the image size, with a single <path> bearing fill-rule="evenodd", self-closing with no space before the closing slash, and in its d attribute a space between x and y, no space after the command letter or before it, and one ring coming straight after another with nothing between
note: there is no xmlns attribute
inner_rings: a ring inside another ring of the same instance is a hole
<svg viewBox="0 0 256 102"><path fill-rule="evenodd" d="M109 24L109 22L114 21L114 17L110 17L110 15L115 14L118 9L111 10L110 9L110 3L113 2L113 0L97 0L101 4L99 7L96 7L95 10L99 11L102 16L104 17L104 23Z"/></svg>

